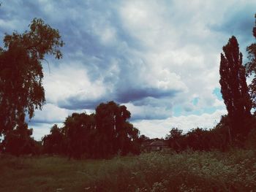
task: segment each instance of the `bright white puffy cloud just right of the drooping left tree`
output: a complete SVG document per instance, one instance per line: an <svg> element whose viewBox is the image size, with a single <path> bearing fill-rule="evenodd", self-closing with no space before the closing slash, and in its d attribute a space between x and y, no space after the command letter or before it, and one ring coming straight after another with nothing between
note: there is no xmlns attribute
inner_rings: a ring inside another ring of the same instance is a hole
<svg viewBox="0 0 256 192"><path fill-rule="evenodd" d="M43 83L46 101L54 104L74 95L78 99L98 99L108 90L102 79L94 82L89 79L83 64L51 66L50 74L45 72Z"/></svg>

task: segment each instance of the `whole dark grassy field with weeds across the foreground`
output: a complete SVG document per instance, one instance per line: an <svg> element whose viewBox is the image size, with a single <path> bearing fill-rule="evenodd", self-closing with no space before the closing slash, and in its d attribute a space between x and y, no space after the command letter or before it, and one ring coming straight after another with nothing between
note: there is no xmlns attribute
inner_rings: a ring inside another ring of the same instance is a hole
<svg viewBox="0 0 256 192"><path fill-rule="evenodd" d="M0 191L256 191L256 153L144 153L110 160L0 156Z"/></svg>

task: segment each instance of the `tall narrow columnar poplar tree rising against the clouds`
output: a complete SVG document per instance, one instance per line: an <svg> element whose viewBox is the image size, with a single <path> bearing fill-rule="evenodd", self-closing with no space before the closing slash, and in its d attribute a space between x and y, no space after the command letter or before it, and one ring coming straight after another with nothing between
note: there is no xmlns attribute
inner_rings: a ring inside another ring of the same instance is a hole
<svg viewBox="0 0 256 192"><path fill-rule="evenodd" d="M251 117L252 101L246 84L245 67L242 65L243 55L239 53L236 37L229 39L223 52L219 83L230 119L230 133L233 137L244 137L249 131L245 123Z"/></svg>

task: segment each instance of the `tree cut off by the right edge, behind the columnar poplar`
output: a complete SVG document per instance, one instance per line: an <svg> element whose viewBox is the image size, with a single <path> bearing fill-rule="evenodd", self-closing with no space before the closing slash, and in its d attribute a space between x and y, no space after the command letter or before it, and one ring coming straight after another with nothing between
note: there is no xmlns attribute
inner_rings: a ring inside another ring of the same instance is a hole
<svg viewBox="0 0 256 192"><path fill-rule="evenodd" d="M256 14L255 14L256 19ZM255 27L252 29L252 35L256 39L256 21ZM252 107L256 108L256 43L252 43L246 48L248 53L248 62L246 63L246 75L249 77L253 75L252 82L249 85L249 93L252 98Z"/></svg>

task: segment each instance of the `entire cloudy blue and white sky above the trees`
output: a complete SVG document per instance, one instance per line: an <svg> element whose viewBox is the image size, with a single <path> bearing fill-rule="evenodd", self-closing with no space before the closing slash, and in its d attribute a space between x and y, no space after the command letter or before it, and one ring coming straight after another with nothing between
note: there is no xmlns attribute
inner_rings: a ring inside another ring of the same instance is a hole
<svg viewBox="0 0 256 192"><path fill-rule="evenodd" d="M151 138L173 127L213 128L227 114L222 47L235 35L246 61L255 7L255 0L2 0L1 39L42 18L65 42L61 60L42 61L46 104L29 121L34 138L107 101L124 104Z"/></svg>

